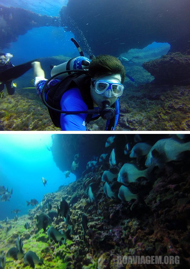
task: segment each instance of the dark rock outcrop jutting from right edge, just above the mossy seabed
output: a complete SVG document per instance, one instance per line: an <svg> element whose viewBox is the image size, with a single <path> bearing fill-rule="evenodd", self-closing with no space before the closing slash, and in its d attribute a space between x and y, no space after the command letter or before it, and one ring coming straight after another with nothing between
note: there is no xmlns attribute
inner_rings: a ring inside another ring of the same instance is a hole
<svg viewBox="0 0 190 269"><path fill-rule="evenodd" d="M142 65L155 79L154 84L190 85L190 56L168 53Z"/></svg>

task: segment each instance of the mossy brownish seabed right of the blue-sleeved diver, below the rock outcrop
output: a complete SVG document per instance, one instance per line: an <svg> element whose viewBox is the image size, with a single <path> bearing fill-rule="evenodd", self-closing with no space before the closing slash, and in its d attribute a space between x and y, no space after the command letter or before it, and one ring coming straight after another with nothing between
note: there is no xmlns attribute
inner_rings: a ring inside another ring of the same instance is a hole
<svg viewBox="0 0 190 269"><path fill-rule="evenodd" d="M117 130L189 131L189 86L146 84L120 98Z"/></svg>

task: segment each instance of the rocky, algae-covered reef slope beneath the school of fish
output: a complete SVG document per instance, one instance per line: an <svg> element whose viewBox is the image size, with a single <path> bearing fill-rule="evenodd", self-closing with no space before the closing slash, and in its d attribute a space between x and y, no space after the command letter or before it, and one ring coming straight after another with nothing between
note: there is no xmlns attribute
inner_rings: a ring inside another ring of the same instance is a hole
<svg viewBox="0 0 190 269"><path fill-rule="evenodd" d="M17 236L23 240L23 251L35 251L44 259L46 268L98 268L98 269L133 269L133 268L184 268L190 266L189 258L189 216L190 216L190 174L189 156L183 161L170 162L163 169L154 169L154 183L146 186L148 193L144 202L107 199L103 194L103 166L85 170L82 176L68 186L62 186L55 193L43 196L43 210L47 213L47 201L56 210L60 199L64 197L70 204L71 224L74 227L72 240L67 245L50 241L43 230L37 232L36 214L41 212L40 205L30 209L28 215L9 222L12 229L6 232L7 225L0 222L0 251L7 252L15 245ZM122 166L119 163L116 169ZM88 200L87 190L90 183L98 186L97 200ZM138 188L144 181L138 183ZM147 183L146 183L147 184ZM78 200L73 202L73 197ZM83 240L81 216L88 216L86 240ZM30 229L24 229L24 223L30 222ZM52 225L66 229L62 218L53 219ZM173 255L179 256L180 264L135 265L117 264L117 255ZM30 268L22 260L12 261L6 268ZM43 268L35 265L35 268Z"/></svg>

